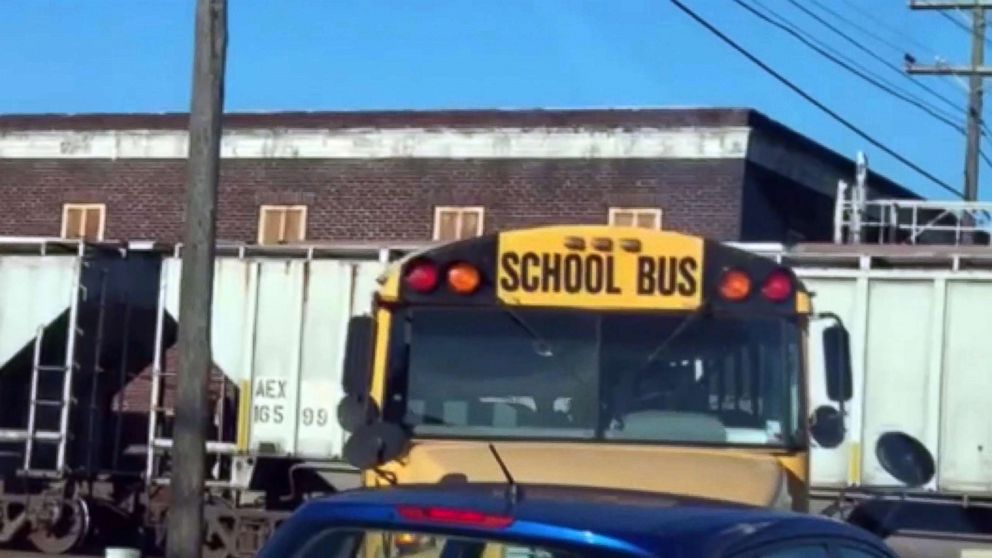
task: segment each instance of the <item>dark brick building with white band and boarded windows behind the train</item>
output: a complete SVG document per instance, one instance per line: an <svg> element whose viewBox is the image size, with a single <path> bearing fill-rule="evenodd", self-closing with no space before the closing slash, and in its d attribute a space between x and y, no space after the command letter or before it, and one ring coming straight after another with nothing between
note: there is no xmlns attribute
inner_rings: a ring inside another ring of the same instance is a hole
<svg viewBox="0 0 992 558"><path fill-rule="evenodd" d="M181 114L0 116L0 234L178 241ZM854 163L744 109L231 114L218 237L422 241L548 223L826 240ZM870 194L914 198L877 175Z"/></svg>

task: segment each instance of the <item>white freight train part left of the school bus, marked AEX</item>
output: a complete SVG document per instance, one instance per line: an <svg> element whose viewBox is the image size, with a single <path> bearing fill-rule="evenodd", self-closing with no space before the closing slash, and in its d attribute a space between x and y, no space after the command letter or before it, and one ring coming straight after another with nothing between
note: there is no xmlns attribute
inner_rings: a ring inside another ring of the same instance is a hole
<svg viewBox="0 0 992 558"><path fill-rule="evenodd" d="M207 554L252 554L338 456L345 327L402 247L218 247ZM161 550L181 247L0 239L0 548Z"/></svg>

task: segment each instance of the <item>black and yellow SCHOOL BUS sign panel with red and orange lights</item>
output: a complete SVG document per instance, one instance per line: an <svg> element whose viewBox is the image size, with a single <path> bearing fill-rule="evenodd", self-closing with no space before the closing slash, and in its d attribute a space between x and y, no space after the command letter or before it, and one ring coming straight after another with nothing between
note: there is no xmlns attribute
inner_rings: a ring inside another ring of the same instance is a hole
<svg viewBox="0 0 992 558"><path fill-rule="evenodd" d="M809 310L802 282L772 258L673 231L606 225L507 230L426 247L395 262L380 283L387 303Z"/></svg>

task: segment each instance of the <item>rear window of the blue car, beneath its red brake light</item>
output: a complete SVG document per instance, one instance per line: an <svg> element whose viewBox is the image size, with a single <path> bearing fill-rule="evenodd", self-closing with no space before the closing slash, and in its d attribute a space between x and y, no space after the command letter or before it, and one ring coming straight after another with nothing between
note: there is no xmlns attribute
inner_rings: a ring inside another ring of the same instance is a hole
<svg viewBox="0 0 992 558"><path fill-rule="evenodd" d="M521 542L452 537L437 533L330 528L298 541L293 558L577 558Z"/></svg>

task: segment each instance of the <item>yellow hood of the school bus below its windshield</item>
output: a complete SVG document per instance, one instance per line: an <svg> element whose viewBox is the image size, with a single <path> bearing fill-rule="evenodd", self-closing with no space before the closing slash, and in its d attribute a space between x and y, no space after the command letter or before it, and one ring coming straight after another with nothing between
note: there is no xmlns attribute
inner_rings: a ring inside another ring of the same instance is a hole
<svg viewBox="0 0 992 558"><path fill-rule="evenodd" d="M774 455L736 449L593 446L567 443L494 444L516 482L644 490L771 506L780 497L785 469ZM382 467L400 484L504 482L489 447L478 442L415 443Z"/></svg>

